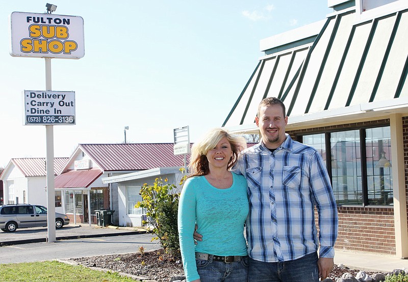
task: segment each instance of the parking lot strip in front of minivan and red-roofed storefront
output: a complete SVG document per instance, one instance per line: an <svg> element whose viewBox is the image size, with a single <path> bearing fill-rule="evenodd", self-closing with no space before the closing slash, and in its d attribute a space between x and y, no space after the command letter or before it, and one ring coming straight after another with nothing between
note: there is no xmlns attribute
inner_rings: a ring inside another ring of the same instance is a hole
<svg viewBox="0 0 408 282"><path fill-rule="evenodd" d="M92 224L68 224L56 230L56 240L94 238L119 235L135 235L147 233L145 229L134 227L101 227ZM46 227L21 228L15 232L0 231L0 246L28 244L48 241Z"/></svg>

